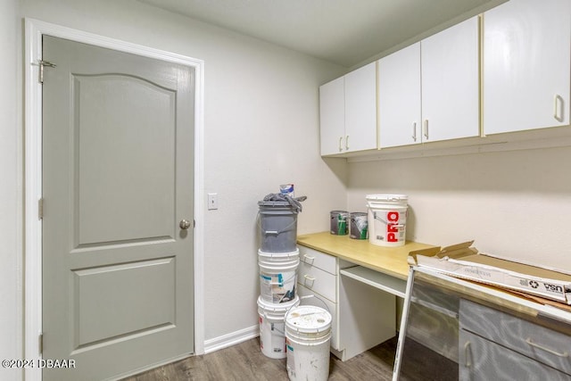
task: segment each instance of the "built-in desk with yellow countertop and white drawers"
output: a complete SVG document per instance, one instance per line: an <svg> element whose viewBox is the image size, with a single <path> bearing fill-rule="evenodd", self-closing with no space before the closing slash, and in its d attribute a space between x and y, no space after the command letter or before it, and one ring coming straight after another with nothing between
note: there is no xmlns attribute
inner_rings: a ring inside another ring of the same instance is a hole
<svg viewBox="0 0 571 381"><path fill-rule="evenodd" d="M434 247L414 242L382 247L328 231L298 236L297 243L298 294L327 305L333 317L332 352L342 360L396 335L395 296L405 296L407 257Z"/></svg>

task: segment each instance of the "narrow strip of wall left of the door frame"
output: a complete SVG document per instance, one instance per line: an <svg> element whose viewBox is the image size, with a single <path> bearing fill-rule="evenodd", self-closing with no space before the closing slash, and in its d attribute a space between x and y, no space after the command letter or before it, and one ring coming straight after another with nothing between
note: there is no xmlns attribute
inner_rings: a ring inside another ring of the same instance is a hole
<svg viewBox="0 0 571 381"><path fill-rule="evenodd" d="M0 360L21 359L21 88L17 0L0 3ZM18 379L0 368L0 379Z"/></svg>

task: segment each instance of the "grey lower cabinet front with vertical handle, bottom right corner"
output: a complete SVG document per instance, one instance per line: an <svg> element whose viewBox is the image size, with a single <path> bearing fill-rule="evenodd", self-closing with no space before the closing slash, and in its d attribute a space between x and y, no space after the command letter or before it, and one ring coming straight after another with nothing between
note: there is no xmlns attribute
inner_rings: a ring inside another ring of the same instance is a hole
<svg viewBox="0 0 571 381"><path fill-rule="evenodd" d="M463 329L459 330L459 340L460 381L569 379L559 370Z"/></svg>

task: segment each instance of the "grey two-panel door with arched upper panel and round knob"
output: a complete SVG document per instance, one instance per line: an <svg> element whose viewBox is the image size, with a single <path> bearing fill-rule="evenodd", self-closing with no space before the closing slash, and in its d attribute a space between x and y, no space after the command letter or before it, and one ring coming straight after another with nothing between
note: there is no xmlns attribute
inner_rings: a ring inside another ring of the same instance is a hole
<svg viewBox="0 0 571 381"><path fill-rule="evenodd" d="M43 358L75 365L44 379L193 353L193 69L46 36L43 59Z"/></svg>

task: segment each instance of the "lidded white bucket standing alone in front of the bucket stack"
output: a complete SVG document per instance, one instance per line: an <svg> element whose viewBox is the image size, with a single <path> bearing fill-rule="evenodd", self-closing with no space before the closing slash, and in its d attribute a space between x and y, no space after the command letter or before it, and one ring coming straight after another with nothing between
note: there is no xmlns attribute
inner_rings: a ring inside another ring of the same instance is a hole
<svg viewBox="0 0 571 381"><path fill-rule="evenodd" d="M302 305L285 314L287 375L292 381L327 381L331 341L331 314Z"/></svg>

